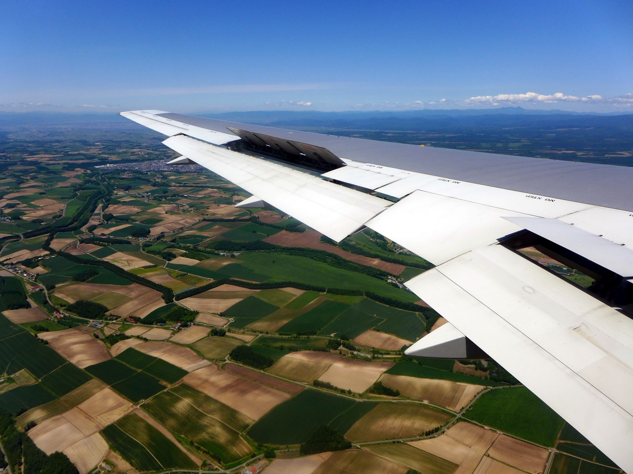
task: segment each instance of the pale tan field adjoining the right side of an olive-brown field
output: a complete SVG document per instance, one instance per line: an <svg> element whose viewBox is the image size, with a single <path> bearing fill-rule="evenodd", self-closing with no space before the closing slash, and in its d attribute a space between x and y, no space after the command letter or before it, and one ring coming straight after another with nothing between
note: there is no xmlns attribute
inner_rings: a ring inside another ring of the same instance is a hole
<svg viewBox="0 0 633 474"><path fill-rule="evenodd" d="M364 360L342 358L332 363L325 374L319 377L322 382L330 382L335 387L363 393L380 375L393 367L392 362L365 362Z"/></svg>

